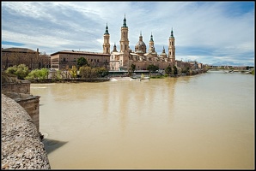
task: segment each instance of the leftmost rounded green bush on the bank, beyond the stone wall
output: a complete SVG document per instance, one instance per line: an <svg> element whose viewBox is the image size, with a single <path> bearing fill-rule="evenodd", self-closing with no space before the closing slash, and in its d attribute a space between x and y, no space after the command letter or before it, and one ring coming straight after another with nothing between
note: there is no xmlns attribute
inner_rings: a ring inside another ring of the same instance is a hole
<svg viewBox="0 0 256 171"><path fill-rule="evenodd" d="M15 74L20 80L24 80L27 74L29 74L28 68L25 64L20 64L18 66L7 68L5 72L7 74Z"/></svg>

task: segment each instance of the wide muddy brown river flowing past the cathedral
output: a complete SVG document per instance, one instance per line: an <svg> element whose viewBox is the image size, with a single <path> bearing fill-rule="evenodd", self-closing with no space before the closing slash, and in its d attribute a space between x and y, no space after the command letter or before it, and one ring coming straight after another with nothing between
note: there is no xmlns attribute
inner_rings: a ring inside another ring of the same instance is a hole
<svg viewBox="0 0 256 171"><path fill-rule="evenodd" d="M254 168L252 75L31 87L51 168Z"/></svg>

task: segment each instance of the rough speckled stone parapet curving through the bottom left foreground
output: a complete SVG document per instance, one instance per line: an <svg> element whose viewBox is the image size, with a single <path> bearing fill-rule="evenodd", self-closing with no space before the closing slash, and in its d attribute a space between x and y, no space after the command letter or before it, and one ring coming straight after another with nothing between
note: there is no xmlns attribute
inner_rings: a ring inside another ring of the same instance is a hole
<svg viewBox="0 0 256 171"><path fill-rule="evenodd" d="M2 169L51 169L40 134L27 111L2 94Z"/></svg>

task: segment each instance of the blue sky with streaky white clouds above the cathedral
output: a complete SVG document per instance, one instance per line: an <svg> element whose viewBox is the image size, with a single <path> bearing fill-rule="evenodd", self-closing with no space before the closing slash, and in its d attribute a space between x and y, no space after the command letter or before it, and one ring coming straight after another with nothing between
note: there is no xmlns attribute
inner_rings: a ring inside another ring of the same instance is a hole
<svg viewBox="0 0 256 171"><path fill-rule="evenodd" d="M130 48L140 32L149 50L168 51L174 30L176 59L210 65L254 66L251 2L3 2L2 48L22 47L51 55L60 50L102 52L106 25L119 50L124 17Z"/></svg>

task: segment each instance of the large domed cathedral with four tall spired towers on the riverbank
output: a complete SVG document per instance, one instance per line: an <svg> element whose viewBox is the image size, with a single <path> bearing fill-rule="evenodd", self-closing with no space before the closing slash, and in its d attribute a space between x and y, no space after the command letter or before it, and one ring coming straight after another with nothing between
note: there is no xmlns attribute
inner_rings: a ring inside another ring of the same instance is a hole
<svg viewBox="0 0 256 171"><path fill-rule="evenodd" d="M168 54L165 52L164 47L162 49L162 54L157 54L152 33L149 40L148 51L146 44L143 42L141 32L138 42L135 45L135 49L131 50L129 46L126 19L124 19L123 27L121 27L119 51L117 50L116 44L114 44L113 50L110 51L109 38L110 34L108 32L108 27L106 27L106 32L104 33L103 54L110 54L109 69L112 71L128 70L131 68L131 64L135 65L136 70L146 70L149 65L155 65L159 67L159 69L165 69L168 66L173 66L175 64L175 39L173 30L168 39Z"/></svg>

